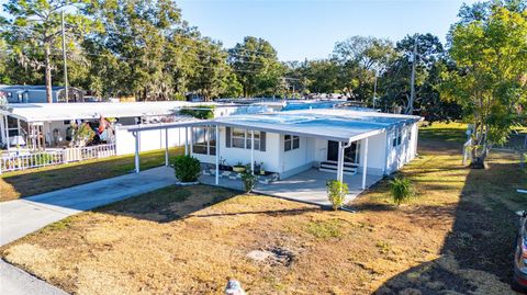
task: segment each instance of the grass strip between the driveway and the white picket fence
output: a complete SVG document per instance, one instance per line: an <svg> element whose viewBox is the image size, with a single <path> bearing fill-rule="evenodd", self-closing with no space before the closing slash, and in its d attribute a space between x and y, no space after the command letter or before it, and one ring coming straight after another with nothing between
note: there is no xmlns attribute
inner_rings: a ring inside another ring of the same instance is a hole
<svg viewBox="0 0 527 295"><path fill-rule="evenodd" d="M182 148L169 150L170 156L181 154ZM141 154L142 170L162 164L165 150ZM134 156L126 155L3 173L0 175L0 202L131 173L134 167Z"/></svg>

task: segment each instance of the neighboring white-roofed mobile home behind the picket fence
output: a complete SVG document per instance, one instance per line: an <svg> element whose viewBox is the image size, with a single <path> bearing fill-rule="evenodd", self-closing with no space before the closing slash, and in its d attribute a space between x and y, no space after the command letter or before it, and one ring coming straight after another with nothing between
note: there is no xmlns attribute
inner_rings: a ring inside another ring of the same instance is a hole
<svg viewBox="0 0 527 295"><path fill-rule="evenodd" d="M166 124L192 120L179 114L182 109L202 104L186 101L168 102L89 102L89 103L11 103L0 106L0 148L22 147L47 149L68 147L72 123L89 123L97 128L101 118L110 128L102 141L116 144L116 154L134 152L134 138L127 128L137 125ZM266 105L214 105L214 116L268 111ZM180 131L170 131L169 146L182 145ZM165 136L159 132L142 134L141 150L165 147Z"/></svg>

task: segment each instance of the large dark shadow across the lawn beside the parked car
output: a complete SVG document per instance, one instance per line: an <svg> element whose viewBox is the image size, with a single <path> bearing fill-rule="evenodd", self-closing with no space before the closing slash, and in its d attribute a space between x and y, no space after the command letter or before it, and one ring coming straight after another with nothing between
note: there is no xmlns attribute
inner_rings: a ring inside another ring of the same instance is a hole
<svg viewBox="0 0 527 295"><path fill-rule="evenodd" d="M399 273L374 294L513 293L508 284L518 230L514 212L527 208L516 189L526 177L516 163L492 163L486 171L469 172L457 205L412 212L415 219L455 218L440 258Z"/></svg>

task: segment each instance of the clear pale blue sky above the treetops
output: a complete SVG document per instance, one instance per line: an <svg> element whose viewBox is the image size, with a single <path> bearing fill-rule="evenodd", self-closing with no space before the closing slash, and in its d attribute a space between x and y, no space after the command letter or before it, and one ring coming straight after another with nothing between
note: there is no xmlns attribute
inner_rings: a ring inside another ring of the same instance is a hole
<svg viewBox="0 0 527 295"><path fill-rule="evenodd" d="M445 42L459 8L472 0L181 0L183 19L232 47L262 37L281 60L326 58L335 42L354 35L397 41L431 33Z"/></svg>

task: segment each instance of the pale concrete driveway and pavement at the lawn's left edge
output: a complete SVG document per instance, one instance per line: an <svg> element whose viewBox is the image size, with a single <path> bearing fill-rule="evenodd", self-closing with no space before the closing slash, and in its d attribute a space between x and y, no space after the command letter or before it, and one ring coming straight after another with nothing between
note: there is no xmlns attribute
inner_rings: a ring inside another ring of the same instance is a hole
<svg viewBox="0 0 527 295"><path fill-rule="evenodd" d="M154 191L176 182L166 167L0 203L0 246L76 213ZM0 261L0 294L66 294Z"/></svg>

